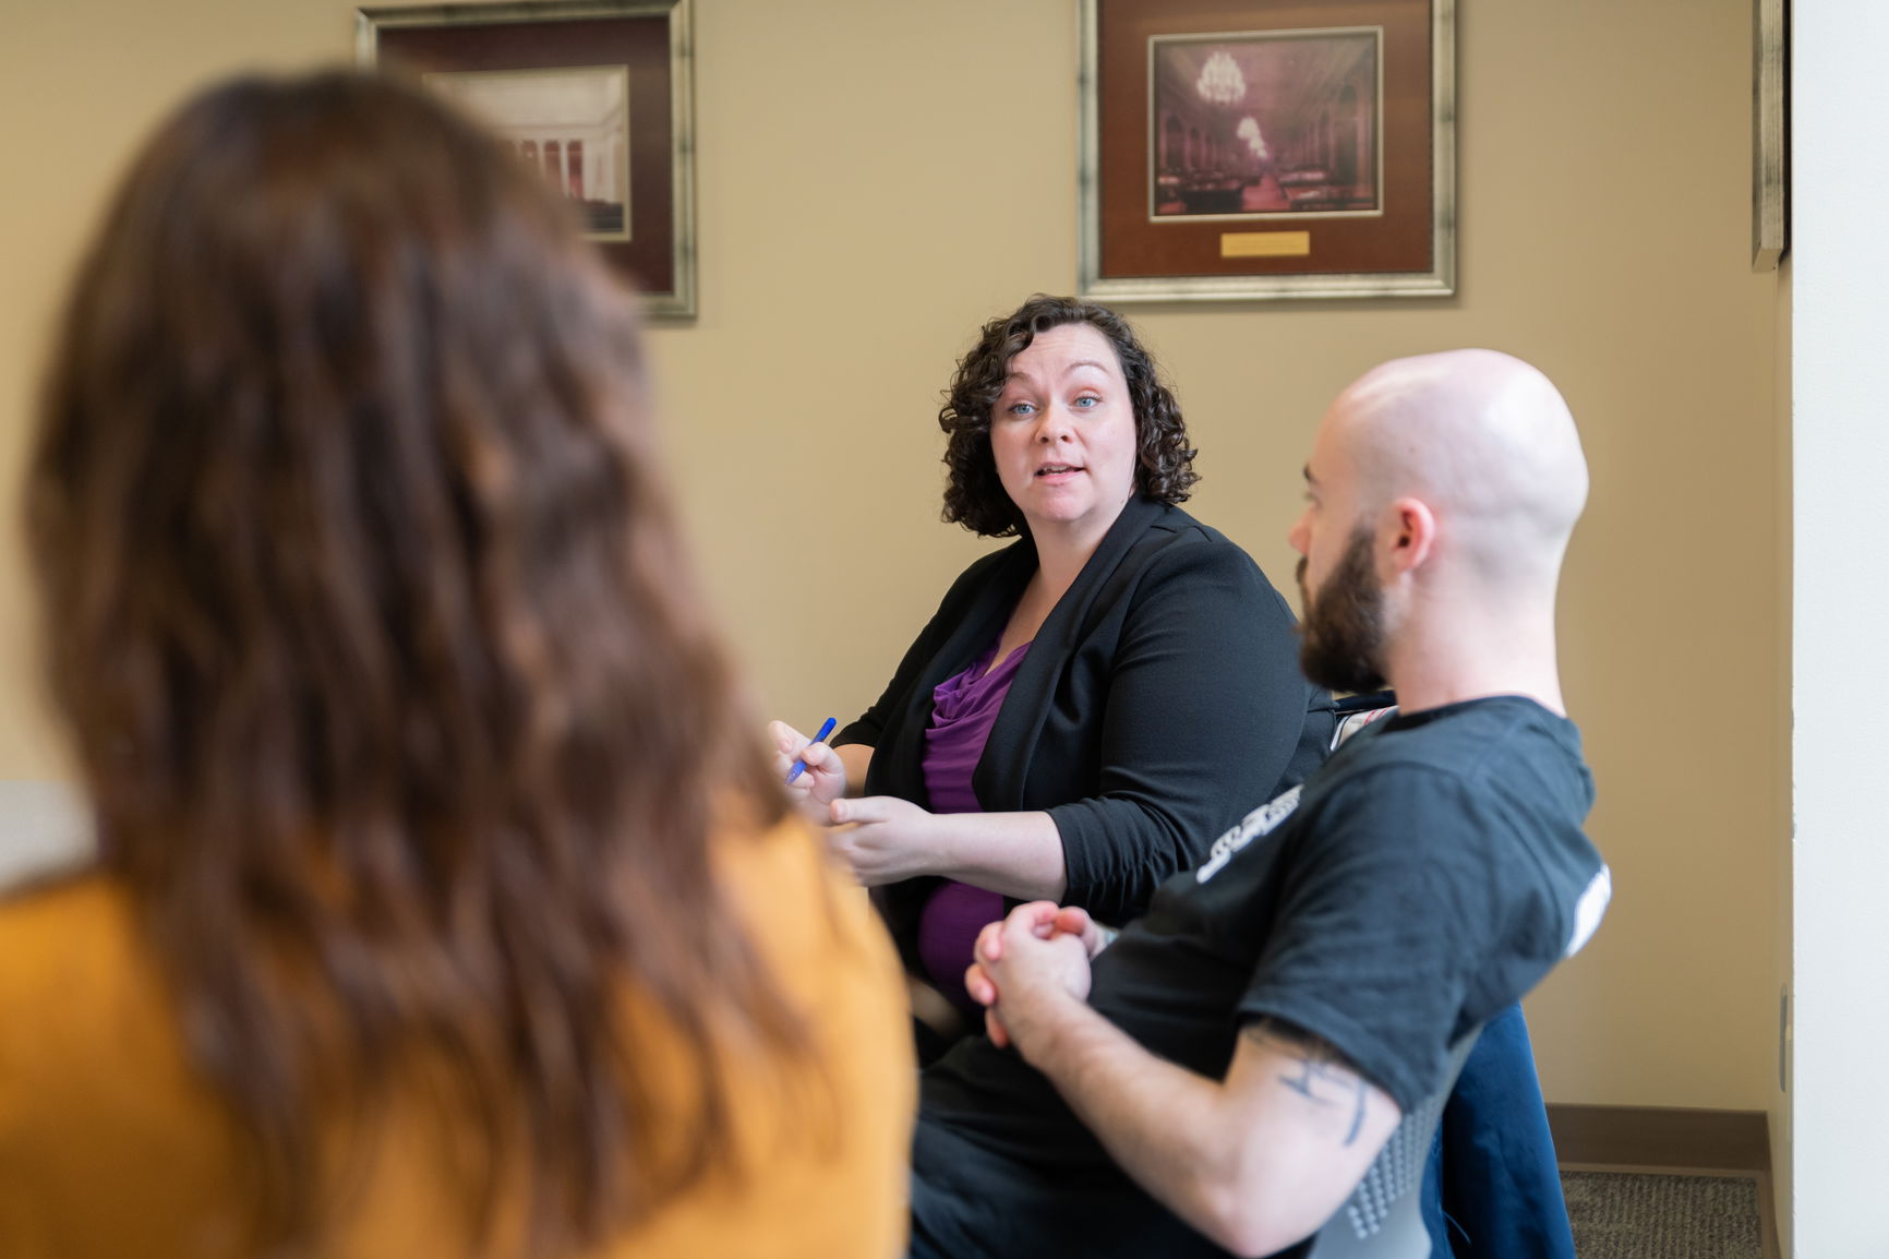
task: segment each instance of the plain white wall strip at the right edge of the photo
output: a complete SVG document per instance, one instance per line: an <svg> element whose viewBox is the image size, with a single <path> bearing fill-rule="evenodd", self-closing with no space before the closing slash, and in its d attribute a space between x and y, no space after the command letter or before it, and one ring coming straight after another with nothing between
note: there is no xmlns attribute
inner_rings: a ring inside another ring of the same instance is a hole
<svg viewBox="0 0 1889 1259"><path fill-rule="evenodd" d="M1796 1038L1806 1259L1889 1253L1889 8L1798 0L1793 64ZM1734 505L1728 505L1734 507Z"/></svg>

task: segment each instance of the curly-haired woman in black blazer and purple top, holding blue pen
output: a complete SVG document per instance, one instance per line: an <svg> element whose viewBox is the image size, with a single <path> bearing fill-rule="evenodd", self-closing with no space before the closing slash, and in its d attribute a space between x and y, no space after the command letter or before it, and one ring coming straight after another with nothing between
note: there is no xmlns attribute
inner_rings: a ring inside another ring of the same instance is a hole
<svg viewBox="0 0 1889 1259"><path fill-rule="evenodd" d="M965 569L831 747L771 730L910 975L971 1015L971 941L1007 902L1128 921L1303 779L1334 720L1285 599L1177 507L1194 448L1120 316L1037 295L992 319L939 425L944 520L1018 541Z"/></svg>

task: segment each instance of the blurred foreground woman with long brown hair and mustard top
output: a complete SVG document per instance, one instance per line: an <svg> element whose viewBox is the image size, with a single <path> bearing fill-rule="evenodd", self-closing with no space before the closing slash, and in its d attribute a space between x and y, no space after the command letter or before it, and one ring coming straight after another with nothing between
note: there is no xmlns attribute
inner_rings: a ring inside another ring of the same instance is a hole
<svg viewBox="0 0 1889 1259"><path fill-rule="evenodd" d="M631 299L419 89L145 146L26 486L100 854L0 900L0 1253L899 1251L895 962L652 446Z"/></svg>

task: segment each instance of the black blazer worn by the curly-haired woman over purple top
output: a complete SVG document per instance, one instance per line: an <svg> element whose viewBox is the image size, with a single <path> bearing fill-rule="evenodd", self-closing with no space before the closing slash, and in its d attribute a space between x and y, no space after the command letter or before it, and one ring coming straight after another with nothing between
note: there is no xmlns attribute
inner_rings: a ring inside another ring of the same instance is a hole
<svg viewBox="0 0 1889 1259"><path fill-rule="evenodd" d="M931 690L996 645L1035 569L1028 537L965 569L878 703L833 737L873 749L867 796L931 807ZM1247 811L1303 781L1332 730L1332 698L1300 673L1292 612L1252 558L1135 497L1037 631L971 786L986 813L1047 811L1064 904L1126 923ZM937 885L873 892L918 974L918 915Z"/></svg>

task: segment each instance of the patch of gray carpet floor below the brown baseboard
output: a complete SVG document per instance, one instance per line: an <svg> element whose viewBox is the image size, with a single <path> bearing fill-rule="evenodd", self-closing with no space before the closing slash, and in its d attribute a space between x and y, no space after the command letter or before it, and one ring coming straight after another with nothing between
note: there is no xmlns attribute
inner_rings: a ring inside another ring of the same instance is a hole
<svg viewBox="0 0 1889 1259"><path fill-rule="evenodd" d="M1749 1176L1562 1172L1579 1259L1764 1259Z"/></svg>

